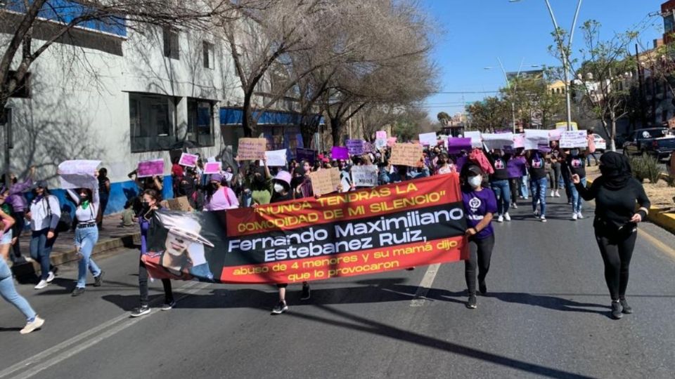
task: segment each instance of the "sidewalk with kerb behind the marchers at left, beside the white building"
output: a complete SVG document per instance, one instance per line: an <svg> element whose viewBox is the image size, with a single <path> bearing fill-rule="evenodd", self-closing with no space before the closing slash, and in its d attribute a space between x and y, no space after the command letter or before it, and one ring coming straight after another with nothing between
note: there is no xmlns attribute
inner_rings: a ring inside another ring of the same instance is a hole
<svg viewBox="0 0 675 379"><path fill-rule="evenodd" d="M134 227L120 227L120 214L107 215L103 218L103 230L98 232L98 243L94 247L92 256L110 251L115 248L133 247L141 244L141 232L138 225ZM68 262L77 261L77 253L73 239L75 232L68 231L58 234L51 251L51 263L58 266ZM23 232L19 239L21 255L30 257L30 231ZM30 277L39 274L38 262L26 262L14 265L12 270L16 277Z"/></svg>

